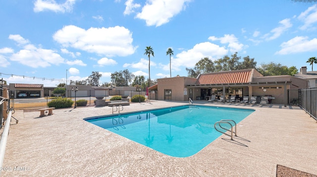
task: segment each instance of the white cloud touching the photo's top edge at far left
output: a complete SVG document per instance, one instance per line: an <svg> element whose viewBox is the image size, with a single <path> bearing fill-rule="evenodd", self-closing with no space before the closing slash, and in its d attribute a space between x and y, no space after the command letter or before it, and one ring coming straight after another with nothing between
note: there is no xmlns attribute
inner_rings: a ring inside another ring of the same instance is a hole
<svg viewBox="0 0 317 177"><path fill-rule="evenodd" d="M71 12L76 0L66 0L64 3L58 4L55 0L36 0L34 2L34 12L42 12L45 10L54 12Z"/></svg>

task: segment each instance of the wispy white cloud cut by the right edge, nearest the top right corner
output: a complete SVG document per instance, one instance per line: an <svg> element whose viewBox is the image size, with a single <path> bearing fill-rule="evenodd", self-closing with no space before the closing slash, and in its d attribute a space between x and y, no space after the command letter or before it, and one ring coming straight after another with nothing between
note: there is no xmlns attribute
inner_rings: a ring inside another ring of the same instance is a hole
<svg viewBox="0 0 317 177"><path fill-rule="evenodd" d="M304 22L304 25L300 27L301 30L306 30L317 22L317 4L309 7L306 11L302 12L298 16L299 20Z"/></svg>

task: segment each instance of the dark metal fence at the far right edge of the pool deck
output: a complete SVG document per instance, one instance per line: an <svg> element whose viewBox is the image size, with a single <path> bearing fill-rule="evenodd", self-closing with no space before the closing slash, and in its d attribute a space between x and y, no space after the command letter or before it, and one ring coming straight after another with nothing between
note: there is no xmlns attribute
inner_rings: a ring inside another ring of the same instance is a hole
<svg viewBox="0 0 317 177"><path fill-rule="evenodd" d="M298 90L299 106L317 120L317 88Z"/></svg>

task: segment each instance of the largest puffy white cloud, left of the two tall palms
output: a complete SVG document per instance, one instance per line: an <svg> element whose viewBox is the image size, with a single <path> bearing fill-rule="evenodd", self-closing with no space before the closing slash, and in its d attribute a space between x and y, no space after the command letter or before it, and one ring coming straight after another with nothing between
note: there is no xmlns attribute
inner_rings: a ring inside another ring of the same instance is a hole
<svg viewBox="0 0 317 177"><path fill-rule="evenodd" d="M108 57L131 55L137 48L132 45L132 33L119 26L85 30L69 25L58 30L53 35L53 39L64 47L73 47Z"/></svg>

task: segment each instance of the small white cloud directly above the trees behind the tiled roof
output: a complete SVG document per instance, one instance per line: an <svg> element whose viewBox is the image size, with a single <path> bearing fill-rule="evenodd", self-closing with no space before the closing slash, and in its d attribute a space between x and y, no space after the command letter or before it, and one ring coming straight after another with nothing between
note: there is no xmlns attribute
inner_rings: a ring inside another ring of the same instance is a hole
<svg viewBox="0 0 317 177"><path fill-rule="evenodd" d="M235 35L224 35L223 37L210 36L208 39L212 41L219 40L222 44L228 43L228 48L230 49L231 53L239 52L247 47L242 43L239 43L239 40Z"/></svg>

